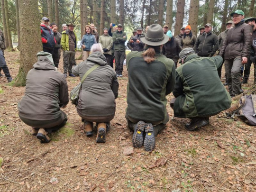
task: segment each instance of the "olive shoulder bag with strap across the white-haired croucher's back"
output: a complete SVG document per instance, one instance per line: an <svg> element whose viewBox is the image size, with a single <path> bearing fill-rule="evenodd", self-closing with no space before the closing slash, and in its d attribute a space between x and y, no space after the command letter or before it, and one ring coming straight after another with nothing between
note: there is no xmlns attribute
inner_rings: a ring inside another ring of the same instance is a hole
<svg viewBox="0 0 256 192"><path fill-rule="evenodd" d="M75 107L77 106L78 103L78 98L79 98L79 93L81 91L81 87L82 87L82 82L85 80L85 78L96 68L98 68L100 65L99 64L95 64L93 67L91 67L91 69L89 69L82 77L81 82L78 83L78 85L76 85L69 94L69 98L70 101L73 105L75 105Z"/></svg>

